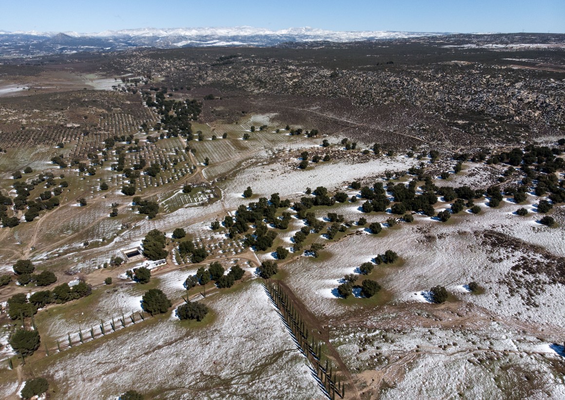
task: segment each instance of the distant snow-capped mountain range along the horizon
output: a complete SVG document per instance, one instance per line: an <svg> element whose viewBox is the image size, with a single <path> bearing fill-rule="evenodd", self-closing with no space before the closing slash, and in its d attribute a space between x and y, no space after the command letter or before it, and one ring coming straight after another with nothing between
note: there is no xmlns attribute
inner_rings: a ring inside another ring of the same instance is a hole
<svg viewBox="0 0 565 400"><path fill-rule="evenodd" d="M141 28L77 32L6 32L0 30L0 52L33 54L56 52L121 50L131 47L273 46L282 42L352 42L421 36L440 36L445 32L338 32L315 28L271 30L253 27L232 28ZM27 49L27 50L26 50Z"/></svg>

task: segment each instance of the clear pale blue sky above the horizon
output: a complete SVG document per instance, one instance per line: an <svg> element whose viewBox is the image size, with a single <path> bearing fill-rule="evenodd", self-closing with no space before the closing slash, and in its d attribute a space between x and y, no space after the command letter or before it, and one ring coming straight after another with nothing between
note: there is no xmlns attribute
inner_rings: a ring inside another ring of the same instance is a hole
<svg viewBox="0 0 565 400"><path fill-rule="evenodd" d="M0 30L312 27L412 32L565 33L565 0L24 0L2 2Z"/></svg>

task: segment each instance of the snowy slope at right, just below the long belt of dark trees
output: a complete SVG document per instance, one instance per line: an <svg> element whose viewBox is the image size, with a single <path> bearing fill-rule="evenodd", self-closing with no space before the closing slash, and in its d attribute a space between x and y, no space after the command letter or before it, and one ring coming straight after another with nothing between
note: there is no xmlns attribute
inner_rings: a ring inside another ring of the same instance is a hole
<svg viewBox="0 0 565 400"><path fill-rule="evenodd" d="M536 254L527 249L523 252L511 248L494 249L484 244L481 234L473 233L501 232L510 238L540 245L555 255L565 254L564 228L542 226L535 222L540 217L534 213L527 217L515 216L510 213L514 208L515 205L506 203L496 209L485 207L479 215L461 212L449 223L416 216L414 223L384 228L377 236L359 228L362 234L327 245L323 252L330 254L331 262L301 257L288 263L285 266L290 272L288 282L315 313L339 314L345 309L332 294L332 289L340 283L338 280L354 272L361 263L392 249L405 265L393 269L379 265L375 269L383 270L380 283L393 292L396 302L413 301L415 293L443 285L450 291L459 292L456 296L461 300L472 301L504 317L565 327L565 317L556 315L554 307L555 302L565 305L562 285L545 285L542 293L533 296L538 306L532 307L525 305L520 296L510 296L507 285L500 282L509 278L511 267L521 256L534 258ZM377 221L383 219L376 218ZM525 280L534 278L524 277ZM484 294L471 298L470 294L457 289L473 280L485 288Z"/></svg>

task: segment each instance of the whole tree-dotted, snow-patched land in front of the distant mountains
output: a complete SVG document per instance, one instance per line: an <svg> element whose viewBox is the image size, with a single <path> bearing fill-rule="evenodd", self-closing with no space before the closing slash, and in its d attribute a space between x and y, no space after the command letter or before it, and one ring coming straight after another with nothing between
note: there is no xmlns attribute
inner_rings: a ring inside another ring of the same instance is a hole
<svg viewBox="0 0 565 400"><path fill-rule="evenodd" d="M565 61L485 37L65 55L113 87L0 96L6 383L559 397Z"/></svg>

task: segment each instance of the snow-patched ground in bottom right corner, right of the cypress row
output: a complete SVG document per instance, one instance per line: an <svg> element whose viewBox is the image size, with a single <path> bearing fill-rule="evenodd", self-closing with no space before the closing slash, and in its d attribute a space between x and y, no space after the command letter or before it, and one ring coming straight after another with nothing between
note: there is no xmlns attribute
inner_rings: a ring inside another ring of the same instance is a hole
<svg viewBox="0 0 565 400"><path fill-rule="evenodd" d="M446 393L489 399L509 398L515 392L521 398L565 395L565 381L551 367L562 357L555 351L560 346L498 322L480 326L470 321L463 329L444 328L440 322L433 329L372 327L391 317L377 314L359 328L334 327L337 350L353 370L364 371L360 379L373 390L379 389L379 378L386 382L382 398L444 398Z"/></svg>

